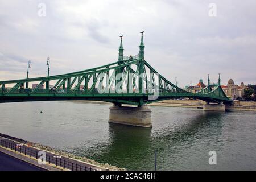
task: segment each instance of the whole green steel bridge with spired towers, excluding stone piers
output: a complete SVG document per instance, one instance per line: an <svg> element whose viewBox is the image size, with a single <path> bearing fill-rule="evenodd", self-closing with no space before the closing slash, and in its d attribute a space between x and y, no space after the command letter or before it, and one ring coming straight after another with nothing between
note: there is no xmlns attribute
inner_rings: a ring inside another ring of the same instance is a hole
<svg viewBox="0 0 256 182"><path fill-rule="evenodd" d="M139 54L123 56L122 36L118 61L97 68L47 77L0 81L0 102L89 100L142 106L172 98L195 98L231 104L220 86L208 85L197 93L172 84L144 60L143 32ZM49 69L48 69L49 73ZM32 88L32 84L36 84Z"/></svg>

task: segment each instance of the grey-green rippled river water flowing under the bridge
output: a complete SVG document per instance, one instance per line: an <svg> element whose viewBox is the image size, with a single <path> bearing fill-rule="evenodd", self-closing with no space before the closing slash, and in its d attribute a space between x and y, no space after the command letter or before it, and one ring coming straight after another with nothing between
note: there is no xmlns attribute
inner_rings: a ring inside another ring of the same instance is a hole
<svg viewBox="0 0 256 182"><path fill-rule="evenodd" d="M0 104L0 133L126 169L256 170L256 114L151 106L152 129L108 123L110 104ZM43 113L40 113L40 112ZM217 165L209 165L216 151Z"/></svg>

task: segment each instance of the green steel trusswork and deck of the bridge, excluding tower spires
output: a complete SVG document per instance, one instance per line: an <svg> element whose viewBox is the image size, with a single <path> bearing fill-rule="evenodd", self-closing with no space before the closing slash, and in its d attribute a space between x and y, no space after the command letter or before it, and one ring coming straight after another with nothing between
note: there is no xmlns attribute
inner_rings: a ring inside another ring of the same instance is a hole
<svg viewBox="0 0 256 182"><path fill-rule="evenodd" d="M131 67L134 65L136 71ZM150 71L151 75L148 78L147 69ZM110 73L112 72L112 73ZM125 85L127 93L112 93L115 82L115 73L122 73L123 77L119 82L121 85ZM104 76L102 77L103 74ZM101 76L100 76L101 75ZM109 75L111 75L109 77ZM143 77L137 77L138 75L143 75ZM158 82L156 82L155 75L158 75ZM97 94L94 92L96 89L97 82L102 82L106 77L106 89L109 90L108 93ZM92 79L92 85L89 89L89 82ZM67 82L67 92L65 93L51 93L49 89L39 89L45 82L49 85L50 81L56 81L54 88L60 90L61 86L65 90L64 85ZM16 90L22 88L25 82L35 82L38 81L40 84L32 89L29 93L16 93ZM77 81L76 86L73 85ZM84 88L80 90L80 86L84 82ZM131 82L131 88L135 90L134 93L129 93L129 83ZM146 82L146 85L144 85ZM6 91L6 84L15 84L9 91ZM159 87L159 97L156 100L148 100L148 84L151 84L156 88ZM199 98L204 101L209 102L225 102L230 103L229 100L223 92L220 85L208 85L207 88L201 90L198 93L189 93L183 89L180 89L176 85L172 84L162 75L155 71L150 64L144 59L138 58L130 61L123 61L122 63L114 62L101 67L85 69L84 71L67 73L63 75L56 75L50 77L39 77L39 78L27 78L21 80L8 80L0 81L2 85L2 96L0 96L0 102L10 101L33 101L33 100L99 100L106 102L113 102L117 104L136 104L142 105L145 103L157 102L160 100L166 100L169 98L179 98L179 97L191 97ZM139 86L139 89L138 89ZM143 87L142 87L143 86ZM212 89L213 88L213 89ZM146 89L146 93L142 93L142 89ZM14 99L15 98L15 99Z"/></svg>

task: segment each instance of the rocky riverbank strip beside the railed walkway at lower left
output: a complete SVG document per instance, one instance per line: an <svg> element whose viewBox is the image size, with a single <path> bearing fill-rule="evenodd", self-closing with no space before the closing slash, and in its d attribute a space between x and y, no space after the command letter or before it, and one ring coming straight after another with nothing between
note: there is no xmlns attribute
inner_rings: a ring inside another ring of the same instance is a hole
<svg viewBox="0 0 256 182"><path fill-rule="evenodd" d="M105 171L105 170L124 171L125 170L125 168L118 168L118 167L112 166L110 164L98 163L95 160L88 159L86 157L80 157L80 156L76 156L76 155L73 155L73 154L69 154L68 152L55 150L55 149L53 149L49 146L43 146L42 144L39 144L39 143L28 142L26 140L16 138L16 137L12 137L12 136L9 136L9 135L6 135L6 134L0 133L0 137L9 139L9 140L14 141L14 142L18 142L20 144L24 144L27 147L31 147L31 148L34 148L36 150L43 150L43 151L49 152L49 153L54 154L54 155L63 156L64 158L75 160L75 161L77 161L77 163L80 163L80 164L84 163L88 166L91 166L92 168L97 169L97 170L102 170L102 171Z"/></svg>

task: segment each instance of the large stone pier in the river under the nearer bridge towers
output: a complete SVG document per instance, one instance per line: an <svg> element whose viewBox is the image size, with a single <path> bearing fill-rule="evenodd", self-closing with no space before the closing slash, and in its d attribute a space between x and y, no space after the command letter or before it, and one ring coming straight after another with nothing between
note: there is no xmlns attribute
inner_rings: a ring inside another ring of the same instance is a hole
<svg viewBox="0 0 256 182"><path fill-rule="evenodd" d="M149 109L146 105L141 107L125 107L121 105L113 105L109 109L110 123L152 127L151 109Z"/></svg>

